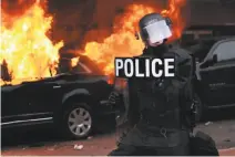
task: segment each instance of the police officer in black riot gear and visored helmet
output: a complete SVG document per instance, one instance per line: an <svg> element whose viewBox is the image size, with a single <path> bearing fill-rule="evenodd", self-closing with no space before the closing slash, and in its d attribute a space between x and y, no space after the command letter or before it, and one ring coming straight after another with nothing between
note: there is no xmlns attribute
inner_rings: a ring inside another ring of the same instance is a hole
<svg viewBox="0 0 235 157"><path fill-rule="evenodd" d="M140 20L140 34L145 43L139 57L174 57L176 76L171 78L127 81L129 106L117 148L109 156L186 156L190 155L190 134L194 127L192 111L193 60L180 48L166 44L172 36L171 20L159 13ZM123 103L119 92L111 103Z"/></svg>

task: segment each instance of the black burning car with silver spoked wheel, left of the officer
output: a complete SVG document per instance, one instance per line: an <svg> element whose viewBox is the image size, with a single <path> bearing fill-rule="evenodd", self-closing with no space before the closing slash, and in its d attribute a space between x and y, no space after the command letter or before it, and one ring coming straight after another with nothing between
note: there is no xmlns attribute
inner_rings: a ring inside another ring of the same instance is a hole
<svg viewBox="0 0 235 157"><path fill-rule="evenodd" d="M80 56L72 74L2 86L1 127L53 123L67 137L86 137L113 113L106 105L112 86L88 62Z"/></svg>

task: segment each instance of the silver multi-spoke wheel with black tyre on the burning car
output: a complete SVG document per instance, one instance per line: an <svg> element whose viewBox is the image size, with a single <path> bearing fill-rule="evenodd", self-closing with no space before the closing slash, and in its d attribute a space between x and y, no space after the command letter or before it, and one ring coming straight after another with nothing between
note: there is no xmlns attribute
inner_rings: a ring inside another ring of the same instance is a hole
<svg viewBox="0 0 235 157"><path fill-rule="evenodd" d="M63 127L70 138L85 138L93 129L91 108L86 103L71 105L64 113Z"/></svg>

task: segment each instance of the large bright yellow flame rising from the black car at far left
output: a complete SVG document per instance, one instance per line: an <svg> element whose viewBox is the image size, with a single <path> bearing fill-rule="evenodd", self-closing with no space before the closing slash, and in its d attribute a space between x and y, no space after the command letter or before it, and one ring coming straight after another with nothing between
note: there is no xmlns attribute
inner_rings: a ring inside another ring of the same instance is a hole
<svg viewBox="0 0 235 157"><path fill-rule="evenodd" d="M37 1L22 15L10 17L2 11L0 63L11 74L8 83L34 81L57 73L59 49L63 42L53 44L47 36L52 17L45 17ZM1 85L6 82L0 80Z"/></svg>

